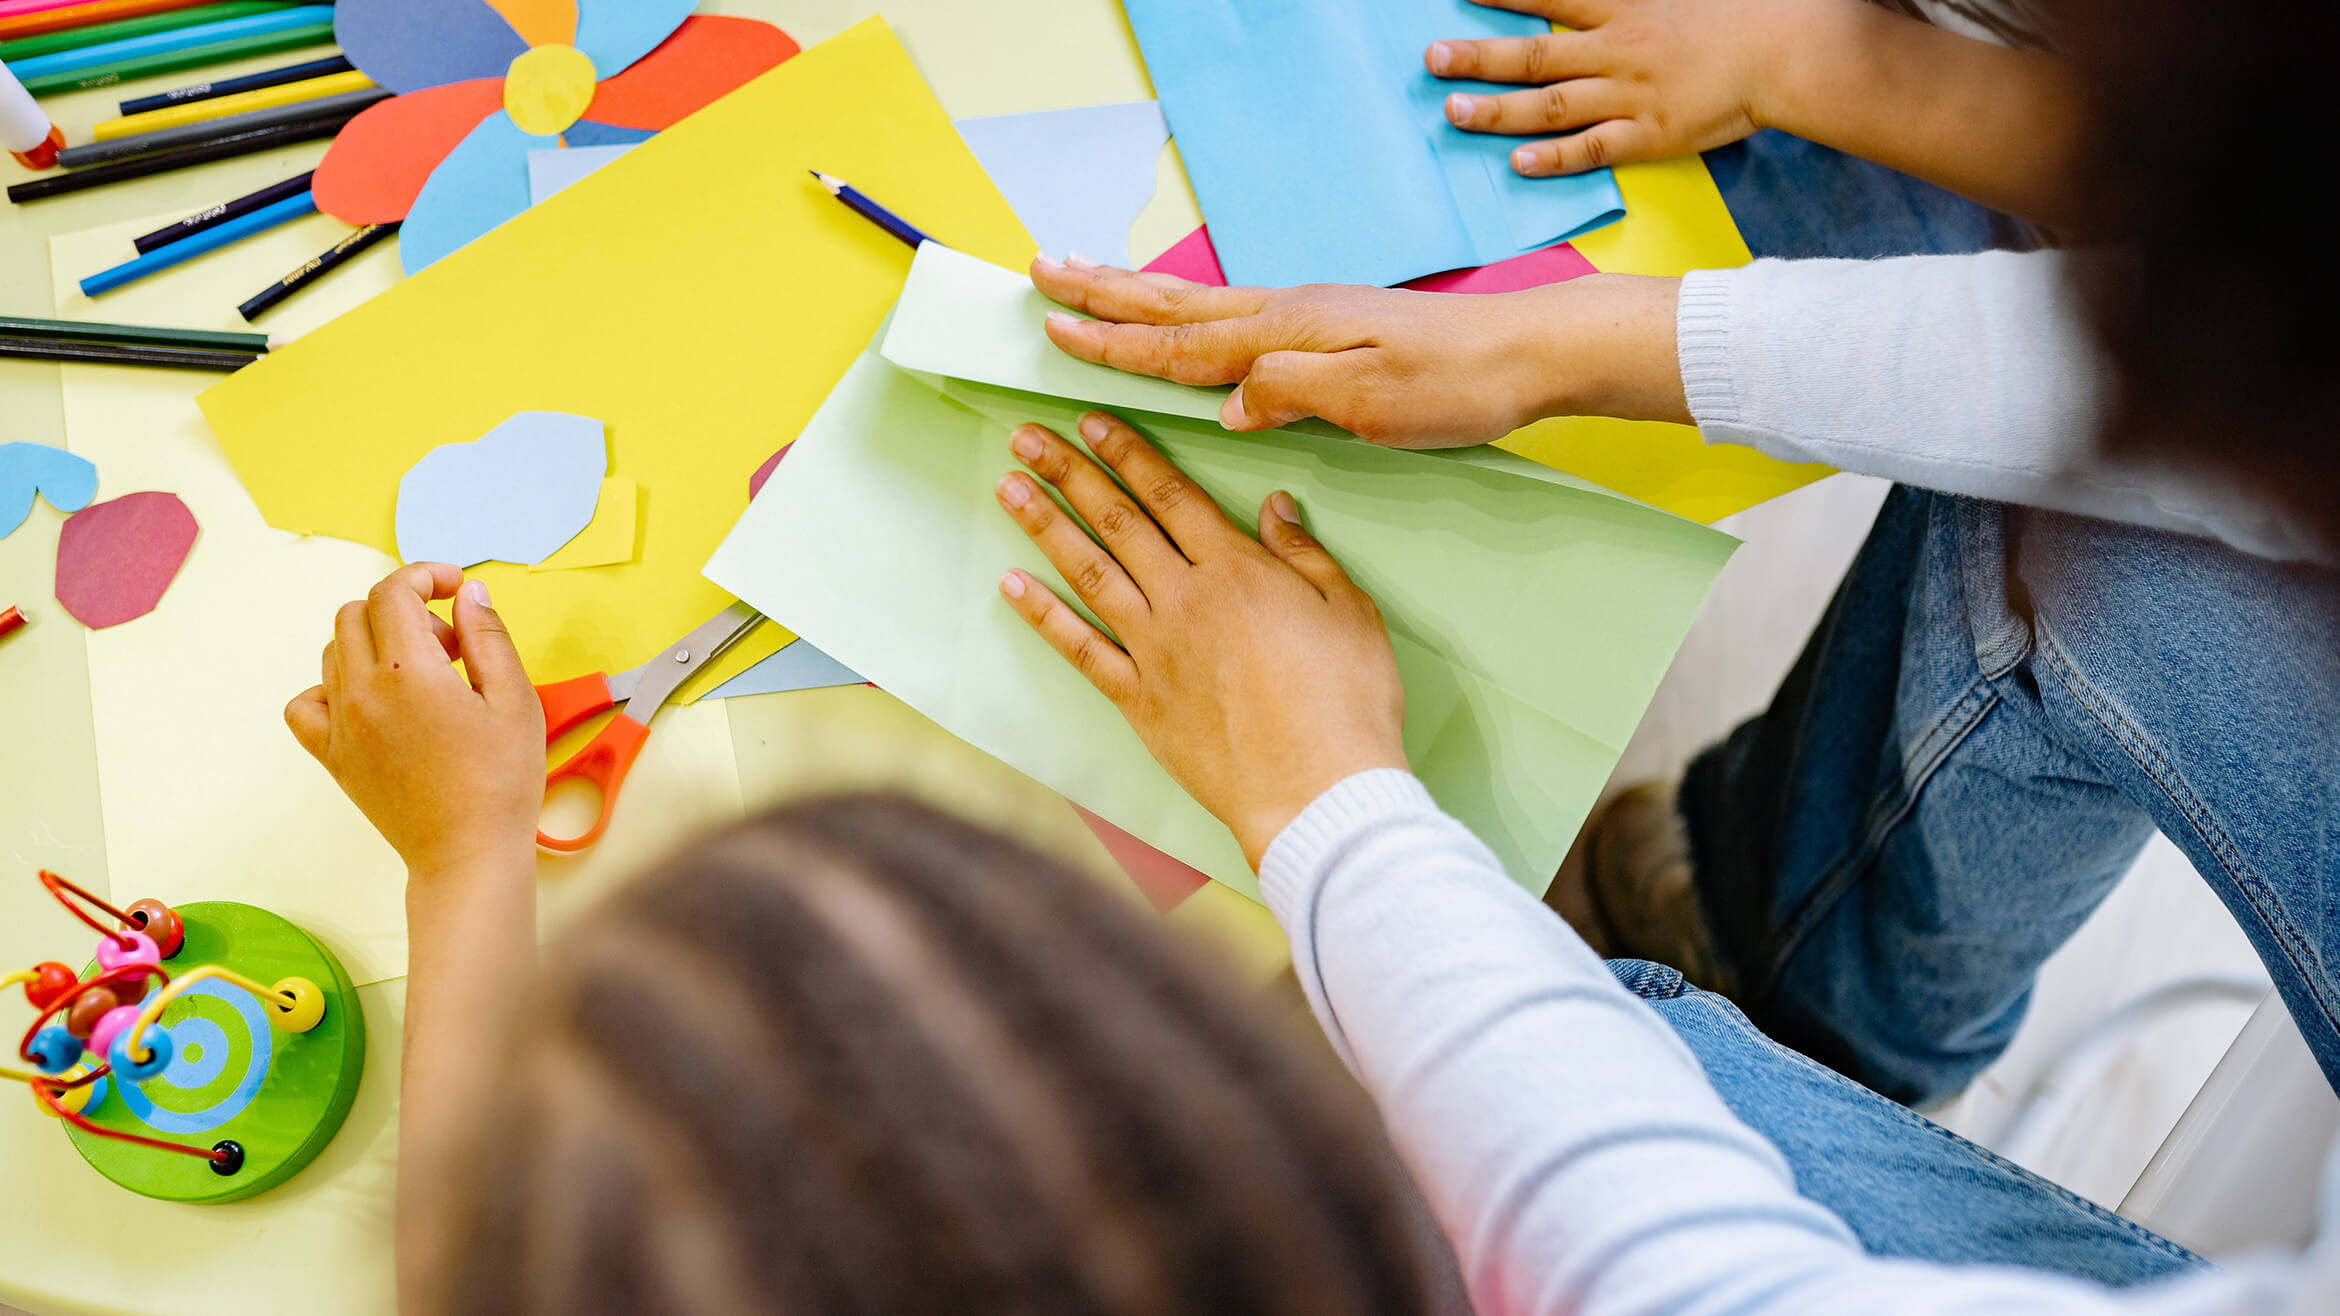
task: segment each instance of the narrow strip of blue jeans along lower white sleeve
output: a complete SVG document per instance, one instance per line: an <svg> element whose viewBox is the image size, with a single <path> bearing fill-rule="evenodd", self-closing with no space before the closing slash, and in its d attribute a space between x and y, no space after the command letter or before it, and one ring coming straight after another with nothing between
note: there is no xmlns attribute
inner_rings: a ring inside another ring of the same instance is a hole
<svg viewBox="0 0 2340 1316"><path fill-rule="evenodd" d="M1729 1000L1645 960L1610 960L1706 1065L1739 1119L1769 1138L1804 1197L1874 1255L2010 1264L2129 1286L2202 1260L1984 1152L1755 1030Z"/></svg>

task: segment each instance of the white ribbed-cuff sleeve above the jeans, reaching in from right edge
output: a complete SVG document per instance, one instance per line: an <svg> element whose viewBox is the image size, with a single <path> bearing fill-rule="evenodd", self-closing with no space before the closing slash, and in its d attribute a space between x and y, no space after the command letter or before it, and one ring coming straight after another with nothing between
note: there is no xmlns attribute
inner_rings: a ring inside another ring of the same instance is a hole
<svg viewBox="0 0 2340 1316"><path fill-rule="evenodd" d="M1757 260L1682 279L1675 349L1708 443L1905 485L2331 560L2214 468L2099 450L2113 372L2062 251Z"/></svg>

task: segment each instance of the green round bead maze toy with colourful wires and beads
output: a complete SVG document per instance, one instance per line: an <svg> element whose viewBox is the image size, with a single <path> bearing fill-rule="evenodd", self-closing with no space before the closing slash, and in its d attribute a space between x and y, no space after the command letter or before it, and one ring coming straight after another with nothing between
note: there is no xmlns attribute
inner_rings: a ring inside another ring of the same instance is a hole
<svg viewBox="0 0 2340 1316"><path fill-rule="evenodd" d="M37 1072L0 1077L28 1084L91 1168L143 1197L220 1204L332 1143L365 1072L365 1012L330 951L248 904L115 909L56 873L40 883L98 951L80 974L56 960L0 974L0 993L21 983L37 1012L16 1047Z"/></svg>

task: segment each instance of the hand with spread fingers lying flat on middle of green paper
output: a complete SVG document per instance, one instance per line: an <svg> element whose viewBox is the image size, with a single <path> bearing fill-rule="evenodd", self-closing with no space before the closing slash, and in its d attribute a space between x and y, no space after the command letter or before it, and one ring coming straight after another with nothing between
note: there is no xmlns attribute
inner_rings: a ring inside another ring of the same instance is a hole
<svg viewBox="0 0 2340 1316"><path fill-rule="evenodd" d="M1121 644L1025 571L1009 571L999 592L1114 700L1257 869L1327 787L1406 766L1406 695L1381 611L1301 529L1289 494L1259 508L1254 541L1119 419L1088 412L1081 438L1121 485L1041 426L1018 429L1011 447L1104 548L1025 473L999 480L999 503Z"/></svg>

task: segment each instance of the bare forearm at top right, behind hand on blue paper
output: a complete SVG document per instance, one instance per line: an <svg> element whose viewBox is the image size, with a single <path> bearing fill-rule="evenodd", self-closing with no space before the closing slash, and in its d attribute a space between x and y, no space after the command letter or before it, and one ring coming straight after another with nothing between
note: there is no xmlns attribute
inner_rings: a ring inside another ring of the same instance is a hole
<svg viewBox="0 0 2340 1316"><path fill-rule="evenodd" d="M2080 89L2064 59L1961 37L1877 5L1790 33L1764 126L1914 173L2045 225L2071 222Z"/></svg>

